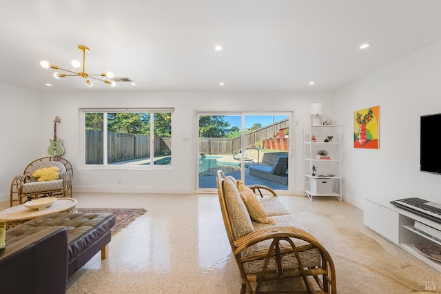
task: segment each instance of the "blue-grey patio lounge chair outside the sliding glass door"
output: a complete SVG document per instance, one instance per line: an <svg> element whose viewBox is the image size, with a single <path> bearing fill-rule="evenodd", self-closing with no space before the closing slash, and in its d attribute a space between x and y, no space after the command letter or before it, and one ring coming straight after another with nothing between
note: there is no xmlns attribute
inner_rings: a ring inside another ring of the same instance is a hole
<svg viewBox="0 0 441 294"><path fill-rule="evenodd" d="M274 166L250 166L249 175L267 179L271 182L287 185L288 157L278 156Z"/></svg>

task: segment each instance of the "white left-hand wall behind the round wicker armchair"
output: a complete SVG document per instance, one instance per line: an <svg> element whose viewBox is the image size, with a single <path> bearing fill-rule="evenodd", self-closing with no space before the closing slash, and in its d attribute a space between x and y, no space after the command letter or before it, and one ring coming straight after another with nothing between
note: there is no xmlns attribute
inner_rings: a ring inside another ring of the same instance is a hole
<svg viewBox="0 0 441 294"><path fill-rule="evenodd" d="M41 155L39 141L49 146L50 137L41 137L39 95L0 82L0 202L9 201L12 179Z"/></svg>

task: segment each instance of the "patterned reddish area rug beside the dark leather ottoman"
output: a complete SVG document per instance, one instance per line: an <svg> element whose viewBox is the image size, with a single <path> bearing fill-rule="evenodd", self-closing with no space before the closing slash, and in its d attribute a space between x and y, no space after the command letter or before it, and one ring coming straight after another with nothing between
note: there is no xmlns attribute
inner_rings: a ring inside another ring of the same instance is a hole
<svg viewBox="0 0 441 294"><path fill-rule="evenodd" d="M76 208L76 210L79 213L113 213L116 223L110 230L112 237L147 211L144 208Z"/></svg>

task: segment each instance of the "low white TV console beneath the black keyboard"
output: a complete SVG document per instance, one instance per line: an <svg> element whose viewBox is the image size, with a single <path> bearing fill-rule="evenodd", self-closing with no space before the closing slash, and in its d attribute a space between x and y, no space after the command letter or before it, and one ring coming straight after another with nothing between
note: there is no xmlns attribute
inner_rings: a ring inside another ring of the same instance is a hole
<svg viewBox="0 0 441 294"><path fill-rule="evenodd" d="M441 246L441 242L416 231L413 228L415 221L441 231L441 224L431 219L383 200L365 199L364 223L366 226L441 272L441 262L426 257L413 247L415 243Z"/></svg>

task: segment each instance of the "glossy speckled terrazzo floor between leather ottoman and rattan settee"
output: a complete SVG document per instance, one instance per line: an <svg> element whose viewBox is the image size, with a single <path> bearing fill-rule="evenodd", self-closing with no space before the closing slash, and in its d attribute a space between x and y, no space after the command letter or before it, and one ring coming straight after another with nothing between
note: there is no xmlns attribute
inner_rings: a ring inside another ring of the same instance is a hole
<svg viewBox="0 0 441 294"><path fill-rule="evenodd" d="M216 195L74 195L77 207L145 208L68 280L67 293L238 293ZM217 206L216 206L217 205Z"/></svg>

